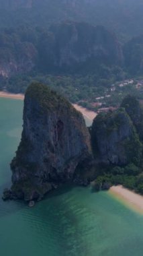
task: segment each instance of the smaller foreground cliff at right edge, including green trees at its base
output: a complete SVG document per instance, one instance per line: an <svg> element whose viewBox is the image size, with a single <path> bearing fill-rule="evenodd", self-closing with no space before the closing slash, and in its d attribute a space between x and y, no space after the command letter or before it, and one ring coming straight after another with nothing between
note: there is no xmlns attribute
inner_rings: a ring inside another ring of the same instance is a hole
<svg viewBox="0 0 143 256"><path fill-rule="evenodd" d="M142 106L133 96L126 96L121 106L100 113L90 129L97 168L92 187L99 191L123 185L142 194Z"/></svg>

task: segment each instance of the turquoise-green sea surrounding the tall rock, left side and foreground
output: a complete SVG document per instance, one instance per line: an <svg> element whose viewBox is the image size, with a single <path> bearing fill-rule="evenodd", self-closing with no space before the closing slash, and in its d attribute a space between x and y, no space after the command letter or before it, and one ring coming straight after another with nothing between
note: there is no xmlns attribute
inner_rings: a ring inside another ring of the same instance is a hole
<svg viewBox="0 0 143 256"><path fill-rule="evenodd" d="M21 133L22 102L0 98L0 193ZM1 256L141 256L143 217L90 188L64 187L35 207L0 199Z"/></svg>

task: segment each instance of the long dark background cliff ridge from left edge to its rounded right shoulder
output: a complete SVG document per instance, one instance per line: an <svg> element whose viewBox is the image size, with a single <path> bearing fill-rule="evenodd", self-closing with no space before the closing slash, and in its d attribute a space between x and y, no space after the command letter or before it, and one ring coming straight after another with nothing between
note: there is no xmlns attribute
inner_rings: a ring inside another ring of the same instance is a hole
<svg viewBox="0 0 143 256"><path fill-rule="evenodd" d="M0 73L9 77L28 71L92 73L122 65L122 46L103 26L63 22L49 29L22 26L1 30Z"/></svg>

